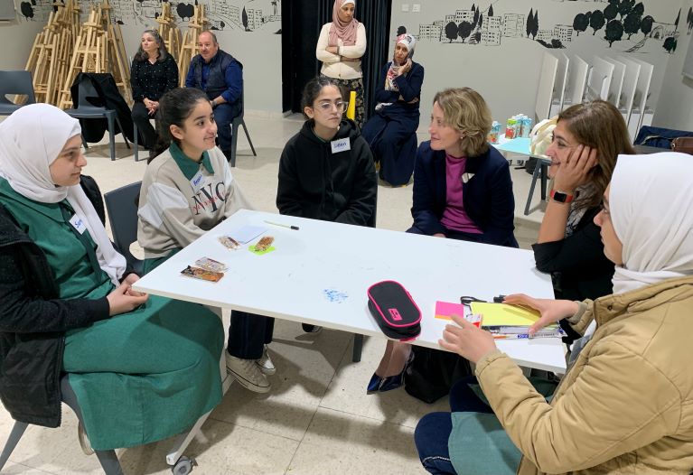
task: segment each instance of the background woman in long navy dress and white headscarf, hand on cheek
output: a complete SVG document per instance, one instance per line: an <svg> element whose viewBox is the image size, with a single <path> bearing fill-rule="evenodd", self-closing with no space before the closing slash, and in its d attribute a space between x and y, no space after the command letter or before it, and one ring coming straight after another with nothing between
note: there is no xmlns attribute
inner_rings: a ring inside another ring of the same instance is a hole
<svg viewBox="0 0 693 475"><path fill-rule="evenodd" d="M380 163L380 178L393 186L405 185L414 172L417 128L424 67L411 60L417 41L408 33L395 41L395 52L376 84L377 105L361 135Z"/></svg>

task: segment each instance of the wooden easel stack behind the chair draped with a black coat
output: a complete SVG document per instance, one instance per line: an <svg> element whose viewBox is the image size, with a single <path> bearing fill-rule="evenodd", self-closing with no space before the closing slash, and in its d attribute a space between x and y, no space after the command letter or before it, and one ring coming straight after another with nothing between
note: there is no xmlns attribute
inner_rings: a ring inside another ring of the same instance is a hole
<svg viewBox="0 0 693 475"><path fill-rule="evenodd" d="M98 7L92 7L89 19L82 23L80 33L74 42L70 66L62 78L58 107L72 107L70 87L80 72L110 72L116 80L120 94L128 104L132 104L130 92L130 70L126 62L123 36L120 25L110 20L110 5L106 0Z"/></svg>

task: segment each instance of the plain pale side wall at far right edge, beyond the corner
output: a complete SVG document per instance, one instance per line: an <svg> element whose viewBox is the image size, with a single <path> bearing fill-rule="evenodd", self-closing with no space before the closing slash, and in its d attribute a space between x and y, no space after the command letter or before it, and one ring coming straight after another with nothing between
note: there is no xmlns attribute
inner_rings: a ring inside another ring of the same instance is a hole
<svg viewBox="0 0 693 475"><path fill-rule="evenodd" d="M688 33L685 27L685 18L691 7L693 1L684 0L681 9L684 28L679 36L676 54L671 56L664 75L660 100L652 120L655 126L693 131L693 80L681 75L683 61L693 40L693 34Z"/></svg>

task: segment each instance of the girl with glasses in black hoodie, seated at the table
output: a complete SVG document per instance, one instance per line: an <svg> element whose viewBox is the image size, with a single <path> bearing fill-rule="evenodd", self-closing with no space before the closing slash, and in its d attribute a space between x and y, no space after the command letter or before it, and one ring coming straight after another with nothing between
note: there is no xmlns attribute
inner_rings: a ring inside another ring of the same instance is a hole
<svg viewBox="0 0 693 475"><path fill-rule="evenodd" d="M374 227L373 157L356 125L342 116L342 89L329 78L311 79L302 104L304 126L279 160L276 207L290 216Z"/></svg>

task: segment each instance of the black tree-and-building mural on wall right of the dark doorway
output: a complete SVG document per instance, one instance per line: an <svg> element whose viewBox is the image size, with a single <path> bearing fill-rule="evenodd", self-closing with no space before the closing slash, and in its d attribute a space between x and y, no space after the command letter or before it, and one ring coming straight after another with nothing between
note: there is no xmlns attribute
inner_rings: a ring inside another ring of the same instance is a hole
<svg viewBox="0 0 693 475"><path fill-rule="evenodd" d="M554 0L564 1L564 0ZM568 0L575 1L575 0ZM545 48L566 48L567 43L583 41L585 35L604 41L605 46L623 52L641 51L647 42L660 42L661 52L673 54L679 38L681 11L673 23L656 20L646 14L645 3L636 0L585 1L585 12L567 18L565 23L540 24L537 7L526 14L494 11L493 4L484 8L472 4L466 10L445 14L433 23L418 25L418 40L500 46L504 38L524 38ZM693 31L693 8L686 17L688 33ZM400 29L406 29L402 25ZM583 36L580 36L583 33ZM653 50L648 50L653 51Z"/></svg>

